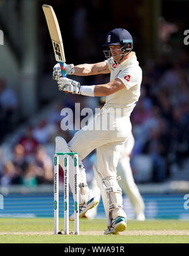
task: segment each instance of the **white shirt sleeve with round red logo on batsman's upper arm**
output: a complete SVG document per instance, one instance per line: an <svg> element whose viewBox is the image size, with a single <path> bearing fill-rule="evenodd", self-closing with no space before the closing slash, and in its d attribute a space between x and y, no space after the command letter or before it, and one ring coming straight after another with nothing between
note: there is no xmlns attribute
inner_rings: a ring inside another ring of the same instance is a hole
<svg viewBox="0 0 189 256"><path fill-rule="evenodd" d="M117 75L117 78L122 80L124 85L129 90L134 85L141 83L142 81L142 70L134 71L134 70L123 70L120 74Z"/></svg>

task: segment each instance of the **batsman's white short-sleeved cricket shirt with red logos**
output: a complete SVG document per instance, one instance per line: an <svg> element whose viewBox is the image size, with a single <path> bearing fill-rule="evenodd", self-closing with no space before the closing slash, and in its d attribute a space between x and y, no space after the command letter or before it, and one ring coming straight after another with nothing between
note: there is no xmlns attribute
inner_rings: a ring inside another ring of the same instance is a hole
<svg viewBox="0 0 189 256"><path fill-rule="evenodd" d="M110 81L119 78L125 84L125 88L114 94L106 96L105 108L124 108L124 113L130 116L140 97L140 84L142 82L142 70L135 52L131 52L129 59L120 64L110 64L105 60L111 71Z"/></svg>

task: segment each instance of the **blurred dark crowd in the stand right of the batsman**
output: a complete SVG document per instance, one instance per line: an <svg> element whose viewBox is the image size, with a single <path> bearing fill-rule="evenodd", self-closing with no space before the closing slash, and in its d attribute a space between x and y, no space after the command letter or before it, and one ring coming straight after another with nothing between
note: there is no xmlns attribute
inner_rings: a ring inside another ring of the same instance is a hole
<svg viewBox="0 0 189 256"><path fill-rule="evenodd" d="M174 58L147 60L131 116L134 154L150 155L157 182L169 178L173 166L182 169L189 155L189 61L186 52Z"/></svg>

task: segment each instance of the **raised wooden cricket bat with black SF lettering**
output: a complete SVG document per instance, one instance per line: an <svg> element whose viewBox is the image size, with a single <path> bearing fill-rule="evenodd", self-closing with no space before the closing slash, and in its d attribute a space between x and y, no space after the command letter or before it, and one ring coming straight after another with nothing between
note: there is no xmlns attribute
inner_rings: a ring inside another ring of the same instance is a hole
<svg viewBox="0 0 189 256"><path fill-rule="evenodd" d="M64 54L64 46L62 42L62 35L60 32L59 22L55 15L52 6L43 4L43 12L49 28L50 38L52 40L52 46L54 49L55 60L60 64L62 76L66 77L65 63L66 58Z"/></svg>

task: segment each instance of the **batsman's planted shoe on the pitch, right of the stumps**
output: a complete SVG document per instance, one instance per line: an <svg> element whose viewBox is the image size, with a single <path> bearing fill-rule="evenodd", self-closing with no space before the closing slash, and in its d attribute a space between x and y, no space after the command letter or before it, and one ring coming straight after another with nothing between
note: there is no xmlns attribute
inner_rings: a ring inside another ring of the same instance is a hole
<svg viewBox="0 0 189 256"><path fill-rule="evenodd" d="M106 229L104 235L118 235L119 232L125 231L126 228L126 219L124 217L118 216L116 219L112 219L112 223L110 227Z"/></svg>

